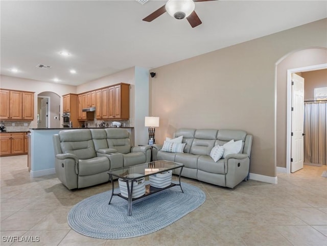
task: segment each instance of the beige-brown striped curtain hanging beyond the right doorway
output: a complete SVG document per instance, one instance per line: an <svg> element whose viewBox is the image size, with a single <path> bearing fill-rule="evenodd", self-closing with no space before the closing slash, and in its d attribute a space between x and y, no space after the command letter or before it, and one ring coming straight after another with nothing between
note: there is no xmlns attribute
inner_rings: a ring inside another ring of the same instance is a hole
<svg viewBox="0 0 327 246"><path fill-rule="evenodd" d="M326 165L327 101L305 102L305 163Z"/></svg>

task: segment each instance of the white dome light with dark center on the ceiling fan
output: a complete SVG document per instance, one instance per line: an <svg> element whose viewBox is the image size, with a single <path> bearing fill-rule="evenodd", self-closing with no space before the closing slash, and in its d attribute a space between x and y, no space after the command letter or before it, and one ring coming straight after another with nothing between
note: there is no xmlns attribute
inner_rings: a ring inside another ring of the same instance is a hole
<svg viewBox="0 0 327 246"><path fill-rule="evenodd" d="M166 4L168 14L176 19L188 17L195 9L192 0L169 0Z"/></svg>

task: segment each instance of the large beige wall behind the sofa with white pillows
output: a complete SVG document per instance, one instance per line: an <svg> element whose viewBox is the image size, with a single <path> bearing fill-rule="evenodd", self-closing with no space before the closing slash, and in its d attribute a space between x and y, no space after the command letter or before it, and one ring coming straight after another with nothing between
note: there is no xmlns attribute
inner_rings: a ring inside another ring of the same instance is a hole
<svg viewBox="0 0 327 246"><path fill-rule="evenodd" d="M293 51L326 47L326 26L323 19L152 69L156 141L178 128L242 129L253 135L250 173L275 177L275 64Z"/></svg>

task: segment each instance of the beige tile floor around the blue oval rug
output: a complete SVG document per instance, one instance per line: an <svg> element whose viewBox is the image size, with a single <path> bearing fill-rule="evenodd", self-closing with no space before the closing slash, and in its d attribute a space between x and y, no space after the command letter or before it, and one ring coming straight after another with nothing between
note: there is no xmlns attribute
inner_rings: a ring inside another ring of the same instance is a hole
<svg viewBox="0 0 327 246"><path fill-rule="evenodd" d="M278 184L249 180L234 189L182 179L205 191L205 203L142 237L103 240L71 230L67 213L110 183L69 191L52 176L30 178L27 156L1 157L1 245L31 236L33 245L327 245L326 166L278 174ZM7 236L7 237L6 237ZM30 243L31 244L31 243Z"/></svg>

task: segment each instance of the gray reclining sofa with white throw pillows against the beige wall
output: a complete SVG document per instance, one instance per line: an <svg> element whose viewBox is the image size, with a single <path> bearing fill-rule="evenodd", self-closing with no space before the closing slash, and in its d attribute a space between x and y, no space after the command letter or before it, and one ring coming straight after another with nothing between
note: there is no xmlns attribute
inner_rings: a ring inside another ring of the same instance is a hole
<svg viewBox="0 0 327 246"><path fill-rule="evenodd" d="M197 179L214 185L233 188L247 180L250 166L252 135L240 130L179 129L174 137L183 136L186 143L184 153L162 151L162 145L154 144L153 160L169 160L183 163L182 176ZM226 155L215 162L209 156L217 144L223 145L230 140L242 140L241 151Z"/></svg>

